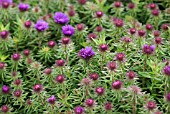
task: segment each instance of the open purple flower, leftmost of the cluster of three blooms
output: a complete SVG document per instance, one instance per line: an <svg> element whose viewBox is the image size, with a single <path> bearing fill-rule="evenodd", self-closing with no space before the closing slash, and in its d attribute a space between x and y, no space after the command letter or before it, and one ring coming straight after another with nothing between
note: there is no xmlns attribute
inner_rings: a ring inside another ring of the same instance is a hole
<svg viewBox="0 0 170 114"><path fill-rule="evenodd" d="M34 25L34 27L39 32L43 32L49 28L48 23L44 20L38 20L37 23Z"/></svg>

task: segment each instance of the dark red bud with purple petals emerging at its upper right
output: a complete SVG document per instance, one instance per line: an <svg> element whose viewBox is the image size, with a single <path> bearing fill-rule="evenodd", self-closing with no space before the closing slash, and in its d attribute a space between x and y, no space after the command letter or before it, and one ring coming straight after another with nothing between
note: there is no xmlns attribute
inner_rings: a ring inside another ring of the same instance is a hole
<svg viewBox="0 0 170 114"><path fill-rule="evenodd" d="M145 44L145 45L143 46L142 50L143 50L143 52L144 52L145 54L150 55L150 54L153 54L153 53L154 53L155 48L156 48L155 45L149 46L148 44Z"/></svg>

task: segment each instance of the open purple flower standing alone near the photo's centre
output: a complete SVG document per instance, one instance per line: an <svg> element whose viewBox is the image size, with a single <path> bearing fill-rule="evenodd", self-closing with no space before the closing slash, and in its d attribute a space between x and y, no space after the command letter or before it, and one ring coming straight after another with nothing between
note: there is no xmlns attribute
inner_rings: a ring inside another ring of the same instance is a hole
<svg viewBox="0 0 170 114"><path fill-rule="evenodd" d="M81 49L78 55L79 57L88 61L95 55L95 52L93 51L92 47L86 47L86 48Z"/></svg>

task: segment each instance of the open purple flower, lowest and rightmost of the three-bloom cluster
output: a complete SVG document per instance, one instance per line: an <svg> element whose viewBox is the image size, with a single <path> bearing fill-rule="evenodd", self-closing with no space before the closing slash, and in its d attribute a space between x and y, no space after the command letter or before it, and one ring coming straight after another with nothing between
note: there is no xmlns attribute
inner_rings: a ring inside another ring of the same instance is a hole
<svg viewBox="0 0 170 114"><path fill-rule="evenodd" d="M65 36L72 36L74 34L74 27L71 25L65 25L62 27L62 32Z"/></svg>

